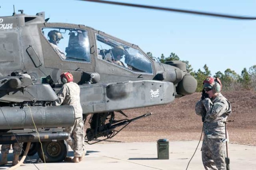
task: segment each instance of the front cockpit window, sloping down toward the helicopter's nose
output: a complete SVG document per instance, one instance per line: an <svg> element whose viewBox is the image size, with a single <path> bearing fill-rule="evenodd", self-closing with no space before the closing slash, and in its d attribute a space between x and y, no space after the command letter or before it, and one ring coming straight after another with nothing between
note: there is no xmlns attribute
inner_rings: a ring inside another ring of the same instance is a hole
<svg viewBox="0 0 256 170"><path fill-rule="evenodd" d="M153 73L152 63L142 52L96 34L98 58L134 72Z"/></svg>

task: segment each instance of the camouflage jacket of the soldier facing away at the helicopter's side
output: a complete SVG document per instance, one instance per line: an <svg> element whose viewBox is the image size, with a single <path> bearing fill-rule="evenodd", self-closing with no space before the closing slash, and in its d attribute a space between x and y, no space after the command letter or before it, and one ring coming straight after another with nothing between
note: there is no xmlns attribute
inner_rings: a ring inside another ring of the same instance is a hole
<svg viewBox="0 0 256 170"><path fill-rule="evenodd" d="M57 94L56 106L71 105L74 107L75 118L82 117L82 106L80 104L80 87L74 82L66 83Z"/></svg>

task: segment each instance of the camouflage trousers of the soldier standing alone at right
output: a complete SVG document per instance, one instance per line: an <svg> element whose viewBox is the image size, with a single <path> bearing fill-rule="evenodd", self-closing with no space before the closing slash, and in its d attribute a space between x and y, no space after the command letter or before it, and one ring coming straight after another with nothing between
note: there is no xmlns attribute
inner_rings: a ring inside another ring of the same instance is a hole
<svg viewBox="0 0 256 170"><path fill-rule="evenodd" d="M202 162L206 170L226 170L225 142L220 138L209 138L204 134Z"/></svg>

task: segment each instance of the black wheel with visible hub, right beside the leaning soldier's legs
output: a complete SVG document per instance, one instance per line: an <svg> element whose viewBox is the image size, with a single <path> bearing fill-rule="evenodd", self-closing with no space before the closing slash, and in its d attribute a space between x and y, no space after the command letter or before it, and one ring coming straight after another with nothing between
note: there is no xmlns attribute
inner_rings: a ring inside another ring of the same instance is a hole
<svg viewBox="0 0 256 170"><path fill-rule="evenodd" d="M37 153L42 161L45 159L45 162L61 162L68 154L68 144L64 140L59 140L57 142L42 142L42 148L44 155L40 145Z"/></svg>

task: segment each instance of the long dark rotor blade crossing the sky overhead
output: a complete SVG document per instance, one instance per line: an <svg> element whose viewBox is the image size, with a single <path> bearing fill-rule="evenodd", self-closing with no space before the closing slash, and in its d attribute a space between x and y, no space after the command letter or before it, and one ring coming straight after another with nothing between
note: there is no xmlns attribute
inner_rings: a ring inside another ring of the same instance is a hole
<svg viewBox="0 0 256 170"><path fill-rule="evenodd" d="M175 9L175 8L163 8L163 7L159 7L159 6L129 4L129 3L113 2L113 1L105 1L105 0L82 0L82 1L98 2L98 3L122 5L122 6L132 6L132 7L147 8L147 9L154 9L154 10L181 12L181 13L187 13L187 14L206 15L206 16L214 16L214 17L221 17L221 18L232 18L232 19L239 19L239 20L256 20L256 17L235 16L235 15L217 14L217 13L210 13L210 12L200 12L200 11L192 11L192 10L181 10L181 9Z"/></svg>

